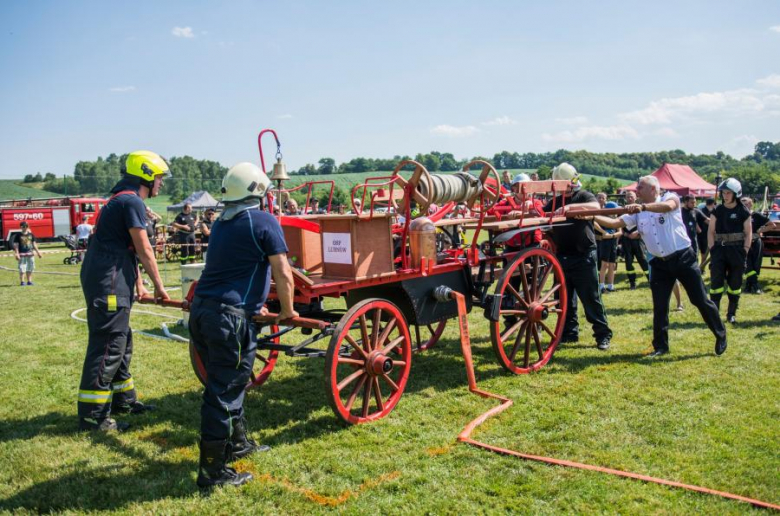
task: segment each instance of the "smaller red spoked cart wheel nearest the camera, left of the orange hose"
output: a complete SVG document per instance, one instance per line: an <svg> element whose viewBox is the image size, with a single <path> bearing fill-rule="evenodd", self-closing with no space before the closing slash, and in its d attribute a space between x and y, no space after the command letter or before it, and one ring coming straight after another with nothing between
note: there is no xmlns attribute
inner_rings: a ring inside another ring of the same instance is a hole
<svg viewBox="0 0 780 516"><path fill-rule="evenodd" d="M325 390L348 424L388 415L401 399L412 365L412 339L393 303L366 299L341 318L325 357Z"/></svg>

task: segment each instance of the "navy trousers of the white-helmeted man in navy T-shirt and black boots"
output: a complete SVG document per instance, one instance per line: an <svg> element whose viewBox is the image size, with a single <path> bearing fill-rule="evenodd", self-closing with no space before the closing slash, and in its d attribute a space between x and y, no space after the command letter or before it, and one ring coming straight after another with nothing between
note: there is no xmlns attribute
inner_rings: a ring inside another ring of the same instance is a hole
<svg viewBox="0 0 780 516"><path fill-rule="evenodd" d="M190 334L208 380L201 405L201 437L226 441L244 415L244 393L257 350L254 322L236 309L195 298Z"/></svg>

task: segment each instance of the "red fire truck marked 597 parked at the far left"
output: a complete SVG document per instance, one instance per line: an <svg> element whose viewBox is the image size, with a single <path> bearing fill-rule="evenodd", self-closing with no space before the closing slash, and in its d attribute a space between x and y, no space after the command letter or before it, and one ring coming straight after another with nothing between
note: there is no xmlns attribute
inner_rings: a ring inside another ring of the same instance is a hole
<svg viewBox="0 0 780 516"><path fill-rule="evenodd" d="M93 224L107 199L97 197L50 197L0 201L0 249L11 249L13 237L27 222L35 238L42 242L71 235L84 217Z"/></svg>

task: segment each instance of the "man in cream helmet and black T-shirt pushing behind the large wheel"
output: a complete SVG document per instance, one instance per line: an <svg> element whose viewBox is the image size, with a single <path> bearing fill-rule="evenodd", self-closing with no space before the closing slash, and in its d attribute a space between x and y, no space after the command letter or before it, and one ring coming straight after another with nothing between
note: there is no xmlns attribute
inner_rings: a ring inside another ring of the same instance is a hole
<svg viewBox="0 0 780 516"><path fill-rule="evenodd" d="M577 169L568 163L561 163L553 169L554 180L570 182L572 192L566 195L566 207L560 208L563 196L550 200L544 207L545 212L552 210L555 202L556 213L573 213L580 209L598 209L596 196L582 190ZM609 349L612 330L607 323L607 313L601 302L599 293L599 272L596 259L596 237L593 232L592 220L571 220L569 226L559 226L553 230L556 255L563 268L568 293L566 321L563 326L561 342L577 342L579 340L579 323L577 321L577 298L585 307L585 317L593 327L596 346L601 350Z"/></svg>

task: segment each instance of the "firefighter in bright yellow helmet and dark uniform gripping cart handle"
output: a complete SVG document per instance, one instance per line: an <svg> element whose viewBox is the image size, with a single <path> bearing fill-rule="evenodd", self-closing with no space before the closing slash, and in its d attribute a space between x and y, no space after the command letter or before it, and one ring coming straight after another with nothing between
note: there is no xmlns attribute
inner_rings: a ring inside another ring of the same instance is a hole
<svg viewBox="0 0 780 516"><path fill-rule="evenodd" d="M109 417L112 412L137 414L153 408L138 401L130 374L130 308L133 287L139 296L149 294L139 260L154 284L155 297L168 299L146 235L144 199L156 196L163 176L170 173L162 157L137 151L127 156L122 174L98 214L81 267L89 328L78 394L82 430L124 430L129 425Z"/></svg>

